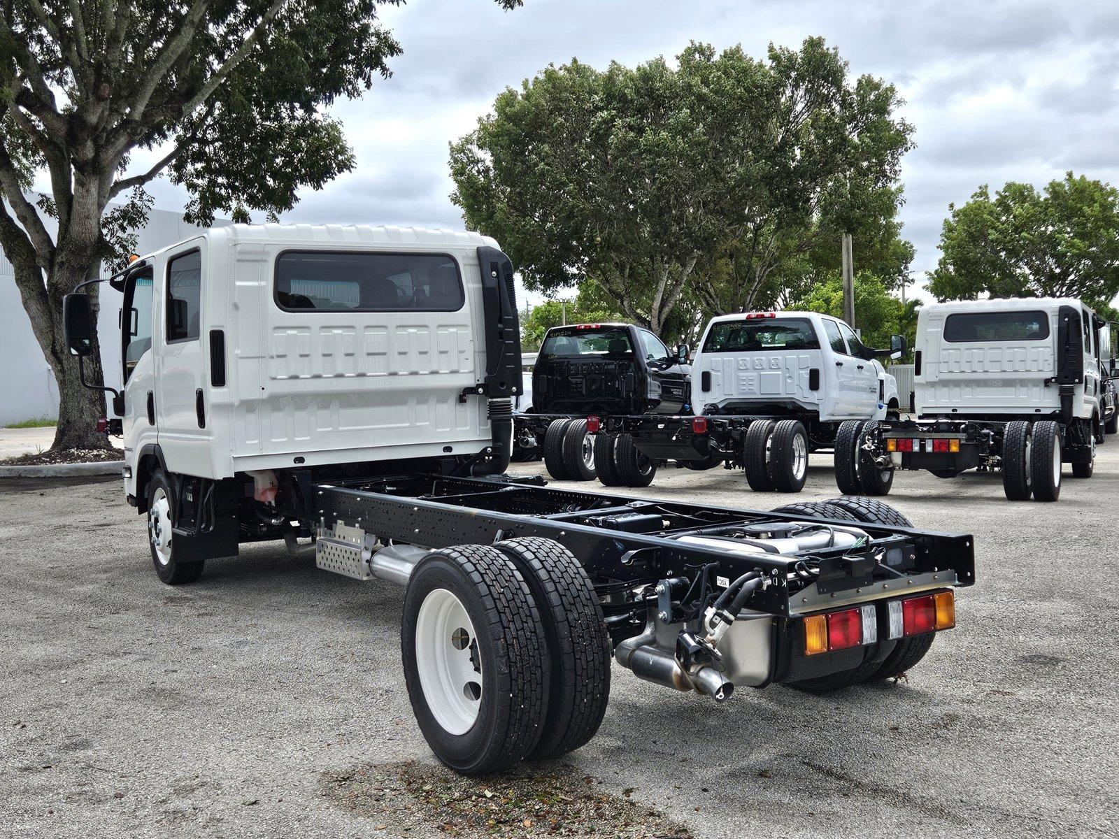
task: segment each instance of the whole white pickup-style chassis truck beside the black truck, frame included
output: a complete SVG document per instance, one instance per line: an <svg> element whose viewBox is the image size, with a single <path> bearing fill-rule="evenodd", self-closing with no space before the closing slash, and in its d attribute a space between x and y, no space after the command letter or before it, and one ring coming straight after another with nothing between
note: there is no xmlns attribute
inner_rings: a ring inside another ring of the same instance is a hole
<svg viewBox="0 0 1119 839"><path fill-rule="evenodd" d="M599 479L647 486L667 461L694 470L722 463L745 471L751 489L799 492L809 453L830 449L845 421L900 415L897 383L877 360L901 357L902 337L891 345L864 347L844 321L818 312L713 318L692 365L696 415L592 417L606 432L598 445L612 449L615 461L636 449L643 465L611 470L604 453Z"/></svg>

